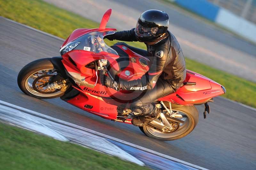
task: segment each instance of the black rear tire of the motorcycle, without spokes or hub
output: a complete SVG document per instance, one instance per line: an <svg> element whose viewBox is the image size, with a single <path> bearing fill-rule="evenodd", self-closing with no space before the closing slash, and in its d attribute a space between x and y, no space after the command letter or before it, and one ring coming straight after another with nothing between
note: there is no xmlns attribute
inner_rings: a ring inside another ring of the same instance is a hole
<svg viewBox="0 0 256 170"><path fill-rule="evenodd" d="M190 126L187 128L186 131L181 131L180 134L176 134L176 135L173 135L173 136L172 136L172 133L174 133L175 131L171 132L171 133L167 133L167 135L163 133L163 136L160 136L159 132L158 132L158 134L154 134L153 133L154 131L150 131L150 128L149 128L148 125L143 126L143 127L139 127L140 130L145 135L147 135L151 138L160 140L160 141L172 141L172 140L177 140L177 139L180 139L182 137L187 136L189 133L191 133L194 130L194 128L196 127L196 125L198 123L198 119L199 119L198 110L196 109L195 106L182 106L182 107L175 108L175 109L172 109L172 110L183 112L188 116L188 119L190 121L190 124L189 124ZM170 134L169 137L168 137L168 134Z"/></svg>

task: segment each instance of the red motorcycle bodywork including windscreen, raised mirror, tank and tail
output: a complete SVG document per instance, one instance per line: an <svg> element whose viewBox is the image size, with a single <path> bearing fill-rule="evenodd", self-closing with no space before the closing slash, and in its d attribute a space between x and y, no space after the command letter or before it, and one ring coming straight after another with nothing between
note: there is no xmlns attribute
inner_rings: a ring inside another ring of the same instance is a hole
<svg viewBox="0 0 256 170"><path fill-rule="evenodd" d="M115 50L104 43L103 36L113 34L114 32L111 31L116 31L114 28L105 28L110 15L111 9L104 14L99 28L82 28L73 31L62 47L83 35L85 38L80 39L84 39L84 42L80 42L79 48L64 53L62 63L68 75L76 82L73 87L80 92L78 96L67 100L67 102L100 117L117 120L120 106L140 97L142 93L129 90L116 91L102 85L98 78L99 71L96 69L98 67L95 67L95 63L98 63L100 59L107 59L110 74L115 74L112 76L117 76L123 81L132 81L140 79L146 74L151 62L148 58L140 56L129 48L118 45L117 47L128 55L128 59L121 58ZM224 94L223 90L225 89L222 89L222 86L217 82L187 70L184 86L176 93L161 97L158 100L180 105L204 104L212 97ZM122 120L118 119L117 121ZM125 123L130 123L130 120L126 120Z"/></svg>

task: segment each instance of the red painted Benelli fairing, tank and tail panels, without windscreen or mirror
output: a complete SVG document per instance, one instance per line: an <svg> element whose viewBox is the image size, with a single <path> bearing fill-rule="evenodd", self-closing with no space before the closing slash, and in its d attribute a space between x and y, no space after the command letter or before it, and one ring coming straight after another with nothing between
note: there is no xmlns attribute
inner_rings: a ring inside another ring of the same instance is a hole
<svg viewBox="0 0 256 170"><path fill-rule="evenodd" d="M119 47L124 50L122 46ZM147 73L150 66L150 62L147 58L134 53L130 49L125 50L125 52L130 58L129 65L120 71L117 76L123 80L131 81L136 80ZM94 69L86 68L85 66L95 60L108 59L114 70L119 71L120 69L116 62L119 56L106 52L95 54L84 50L74 50L64 54L62 57L63 65L67 71L79 73L81 78L84 77L85 81L89 84L94 84L97 80L97 76ZM69 57L76 63L76 66L70 62L68 59ZM140 63L141 59L144 61L143 66ZM125 74L126 71L129 71L130 75ZM220 84L189 70L187 71L187 77L184 82L193 82L196 83L196 85L184 85L176 93L159 98L158 100L171 101L175 104L193 105L205 103L212 97L224 94ZM140 95L140 93L131 93L125 90L116 91L114 89L107 88L99 81L94 88L83 85L79 87L80 88L78 90L81 91L81 94L78 97L69 100L68 103L111 120L116 119L117 106L122 104L122 102L119 103L108 97L124 98L124 101L129 101L130 99L134 99L134 95ZM91 109L85 108L86 104L92 105L93 107Z"/></svg>

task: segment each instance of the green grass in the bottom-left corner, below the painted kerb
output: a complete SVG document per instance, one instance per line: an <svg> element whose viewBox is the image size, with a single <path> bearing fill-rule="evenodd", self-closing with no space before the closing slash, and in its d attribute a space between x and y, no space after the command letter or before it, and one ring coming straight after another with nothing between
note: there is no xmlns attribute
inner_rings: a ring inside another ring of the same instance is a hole
<svg viewBox="0 0 256 170"><path fill-rule="evenodd" d="M91 149L0 123L0 170L148 169Z"/></svg>

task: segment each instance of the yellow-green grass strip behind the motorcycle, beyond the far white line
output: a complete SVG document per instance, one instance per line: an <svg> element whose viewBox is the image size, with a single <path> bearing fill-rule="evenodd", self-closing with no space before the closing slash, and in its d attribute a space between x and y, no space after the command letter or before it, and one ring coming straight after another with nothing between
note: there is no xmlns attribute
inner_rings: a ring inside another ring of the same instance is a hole
<svg viewBox="0 0 256 170"><path fill-rule="evenodd" d="M0 15L64 39L76 28L99 27L96 22L40 0L0 0ZM108 45L115 42L106 41ZM146 48L144 43L128 44ZM203 74L225 86L227 93L223 97L256 107L256 83L188 58L186 61L189 70Z"/></svg>

